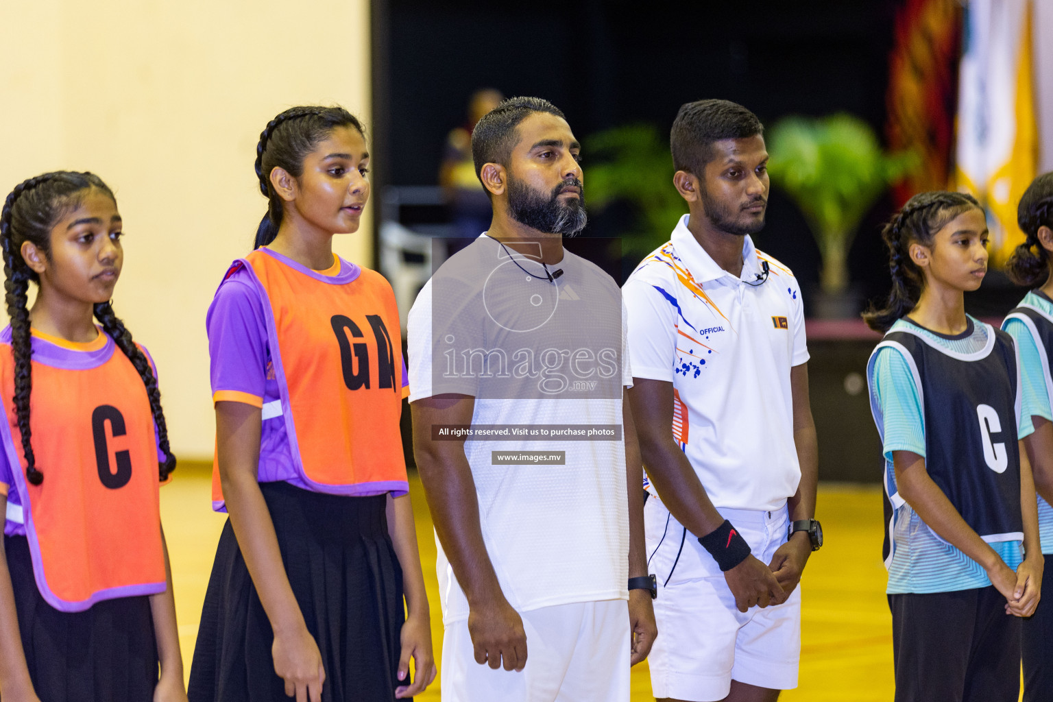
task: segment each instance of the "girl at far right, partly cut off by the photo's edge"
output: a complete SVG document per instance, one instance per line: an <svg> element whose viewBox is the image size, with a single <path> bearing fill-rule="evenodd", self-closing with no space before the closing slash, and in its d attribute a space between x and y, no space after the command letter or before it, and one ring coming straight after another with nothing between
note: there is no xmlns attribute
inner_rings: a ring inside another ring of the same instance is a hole
<svg viewBox="0 0 1053 702"><path fill-rule="evenodd" d="M1016 247L1007 264L1010 278L1031 290L1002 322L1001 328L1016 340L1022 386L1021 425L1029 432L1024 447L1034 472L1038 493L1038 533L1046 568L1042 585L1053 579L1053 173L1038 176L1020 198L1016 220L1027 240ZM1021 623L1024 700L1053 699L1053 605L1039 603L1035 614Z"/></svg>

